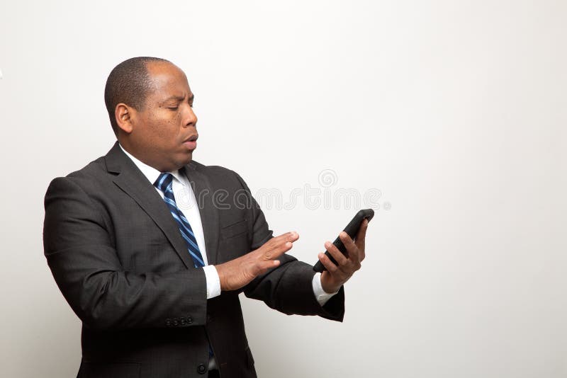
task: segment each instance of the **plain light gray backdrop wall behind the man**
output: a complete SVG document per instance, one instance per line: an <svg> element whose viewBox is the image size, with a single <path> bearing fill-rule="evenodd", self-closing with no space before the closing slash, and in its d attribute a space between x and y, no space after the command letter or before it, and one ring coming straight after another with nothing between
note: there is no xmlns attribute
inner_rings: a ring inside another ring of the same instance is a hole
<svg viewBox="0 0 567 378"><path fill-rule="evenodd" d="M381 190L344 323L244 300L260 377L567 377L566 18L559 0L3 0L0 375L77 372L43 195L111 147L106 76L152 55L196 93L196 160L284 199L325 169L329 190ZM313 263L354 209L265 212Z"/></svg>

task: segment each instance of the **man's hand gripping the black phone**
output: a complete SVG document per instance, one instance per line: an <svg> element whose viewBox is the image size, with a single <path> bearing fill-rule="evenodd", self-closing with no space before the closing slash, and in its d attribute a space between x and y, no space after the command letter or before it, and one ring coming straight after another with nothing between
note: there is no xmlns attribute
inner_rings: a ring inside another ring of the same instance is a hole
<svg viewBox="0 0 567 378"><path fill-rule="evenodd" d="M325 253L319 253L319 260L327 269L321 274L321 286L325 292L337 292L344 282L347 282L353 273L360 269L360 263L365 256L364 238L367 228L368 220L364 219L354 241L344 231L339 234L344 247L347 248L346 255L343 255L339 248L330 241L325 242L325 248L338 263L338 265L335 265Z"/></svg>

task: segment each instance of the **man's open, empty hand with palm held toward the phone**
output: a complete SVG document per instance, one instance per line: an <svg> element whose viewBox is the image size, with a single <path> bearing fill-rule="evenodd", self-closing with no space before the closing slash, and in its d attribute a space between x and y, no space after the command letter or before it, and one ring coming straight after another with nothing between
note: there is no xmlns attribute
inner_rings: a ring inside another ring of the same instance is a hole
<svg viewBox="0 0 567 378"><path fill-rule="evenodd" d="M220 290L237 290L244 287L266 270L279 265L279 256L291 249L299 239L297 232L287 232L271 238L262 246L226 263L215 265L220 280Z"/></svg>

